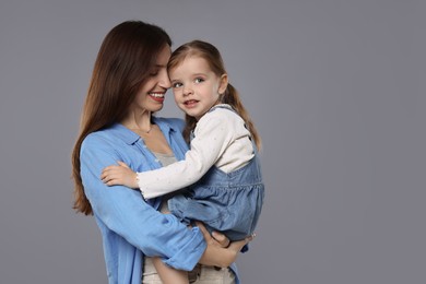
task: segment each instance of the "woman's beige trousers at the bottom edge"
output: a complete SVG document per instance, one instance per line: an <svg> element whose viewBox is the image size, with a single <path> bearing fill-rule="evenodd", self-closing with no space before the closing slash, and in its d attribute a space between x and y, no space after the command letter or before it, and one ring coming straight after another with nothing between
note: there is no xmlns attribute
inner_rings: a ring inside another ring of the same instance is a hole
<svg viewBox="0 0 426 284"><path fill-rule="evenodd" d="M235 284L235 275L228 268L220 269L197 264L188 272L189 283L193 284ZM151 258L145 258L142 284L163 284Z"/></svg>

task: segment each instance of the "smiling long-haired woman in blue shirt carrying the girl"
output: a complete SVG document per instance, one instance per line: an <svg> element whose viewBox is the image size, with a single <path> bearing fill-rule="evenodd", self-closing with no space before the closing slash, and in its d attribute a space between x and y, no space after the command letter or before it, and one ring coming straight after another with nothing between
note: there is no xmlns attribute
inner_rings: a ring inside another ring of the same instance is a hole
<svg viewBox="0 0 426 284"><path fill-rule="evenodd" d="M186 271L198 262L212 271L213 265L230 265L226 272L233 283L232 262L249 239L220 247L202 226L187 228L171 214L157 212L159 199L146 203L140 192L108 189L99 178L102 169L117 161L144 171L162 166L153 153L184 158L188 150L184 121L152 116L162 109L170 87L166 70L170 45L162 28L137 21L117 25L105 37L72 153L74 209L95 216L109 283L141 283L147 269L144 257L154 256Z"/></svg>

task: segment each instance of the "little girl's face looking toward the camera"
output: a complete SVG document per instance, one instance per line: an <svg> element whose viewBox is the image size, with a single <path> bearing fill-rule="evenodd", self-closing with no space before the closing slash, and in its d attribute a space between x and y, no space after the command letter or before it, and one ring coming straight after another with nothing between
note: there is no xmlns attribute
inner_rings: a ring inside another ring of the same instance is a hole
<svg viewBox="0 0 426 284"><path fill-rule="evenodd" d="M227 86L227 75L217 76L208 61L197 56L169 70L169 76L177 106L197 120L220 103Z"/></svg>

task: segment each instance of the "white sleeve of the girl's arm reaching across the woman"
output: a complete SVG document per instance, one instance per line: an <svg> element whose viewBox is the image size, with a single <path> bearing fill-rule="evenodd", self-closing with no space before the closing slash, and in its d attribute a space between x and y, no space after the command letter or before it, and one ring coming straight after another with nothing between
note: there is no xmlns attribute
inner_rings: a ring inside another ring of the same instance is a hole
<svg viewBox="0 0 426 284"><path fill-rule="evenodd" d="M226 110L228 111L228 110ZM233 123L221 111L204 115L185 159L155 170L138 173L138 185L145 199L179 190L198 181L234 140Z"/></svg>

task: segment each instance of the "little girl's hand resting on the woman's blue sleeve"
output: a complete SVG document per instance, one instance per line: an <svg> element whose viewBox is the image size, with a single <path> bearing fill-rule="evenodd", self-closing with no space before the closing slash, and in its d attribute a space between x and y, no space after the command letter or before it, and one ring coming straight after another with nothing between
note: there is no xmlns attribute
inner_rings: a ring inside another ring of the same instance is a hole
<svg viewBox="0 0 426 284"><path fill-rule="evenodd" d="M118 165L107 166L102 170L100 179L107 186L126 186L129 188L139 188L138 174L130 169L122 162L117 162Z"/></svg>

